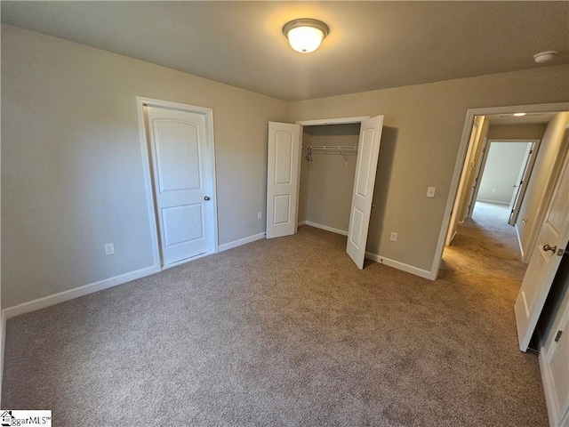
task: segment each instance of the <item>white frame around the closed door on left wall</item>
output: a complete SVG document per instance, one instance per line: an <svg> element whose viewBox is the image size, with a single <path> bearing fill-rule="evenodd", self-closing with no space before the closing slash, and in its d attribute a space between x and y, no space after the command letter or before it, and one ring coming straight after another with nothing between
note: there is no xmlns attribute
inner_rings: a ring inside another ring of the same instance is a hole
<svg viewBox="0 0 569 427"><path fill-rule="evenodd" d="M144 107L157 107L163 109L176 109L179 111L186 111L194 114L201 114L205 118L205 134L207 135L207 144L209 145L208 161L211 163L212 176L212 203L213 203L213 247L211 252L196 255L192 258L182 260L180 262L173 262L172 264L163 265L162 254L160 251L160 240L158 238L158 222L156 219L156 199L153 190L153 178L150 157L150 144L147 138L147 126L144 119ZM154 267L157 270L167 270L176 265L186 262L195 261L199 258L210 254L217 254L219 252L219 226L218 226L218 213L217 213L217 173L215 172L215 140L213 137L213 109L206 107L197 107L195 105L182 104L180 102L156 100L154 98L146 98L142 96L136 97L136 108L139 119L139 134L140 134L140 152L142 154L142 167L144 169L144 187L146 192L146 202L148 207L148 223L150 224L150 239L152 240L152 254L154 258Z"/></svg>

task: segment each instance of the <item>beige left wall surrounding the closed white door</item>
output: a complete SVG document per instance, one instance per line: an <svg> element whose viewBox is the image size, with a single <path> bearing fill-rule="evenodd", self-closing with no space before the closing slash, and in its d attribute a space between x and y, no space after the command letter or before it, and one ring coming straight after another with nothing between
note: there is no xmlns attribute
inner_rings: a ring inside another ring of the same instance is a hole
<svg viewBox="0 0 569 427"><path fill-rule="evenodd" d="M2 25L4 307L153 264L137 95L213 109L220 244L265 231L286 102Z"/></svg>

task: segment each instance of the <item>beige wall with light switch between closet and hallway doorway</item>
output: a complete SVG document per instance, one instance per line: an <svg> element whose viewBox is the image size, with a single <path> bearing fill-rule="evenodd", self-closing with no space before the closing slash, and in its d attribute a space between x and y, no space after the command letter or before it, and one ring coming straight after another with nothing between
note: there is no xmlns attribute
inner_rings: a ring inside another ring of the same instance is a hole
<svg viewBox="0 0 569 427"><path fill-rule="evenodd" d="M568 76L567 66L533 68L299 101L290 120L385 115L368 250L431 270L467 109L568 101Z"/></svg>

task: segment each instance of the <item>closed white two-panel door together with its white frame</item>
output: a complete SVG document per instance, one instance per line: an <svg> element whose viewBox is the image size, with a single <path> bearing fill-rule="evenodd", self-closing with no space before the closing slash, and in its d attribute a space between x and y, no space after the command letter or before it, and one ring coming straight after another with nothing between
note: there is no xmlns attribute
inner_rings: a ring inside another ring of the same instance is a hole
<svg viewBox="0 0 569 427"><path fill-rule="evenodd" d="M138 102L155 264L164 270L217 252L212 110Z"/></svg>

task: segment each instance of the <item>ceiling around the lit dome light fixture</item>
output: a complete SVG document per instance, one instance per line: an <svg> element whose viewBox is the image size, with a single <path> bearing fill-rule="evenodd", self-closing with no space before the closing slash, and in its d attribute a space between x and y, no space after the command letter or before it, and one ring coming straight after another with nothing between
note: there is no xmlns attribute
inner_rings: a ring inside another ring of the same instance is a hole
<svg viewBox="0 0 569 427"><path fill-rule="evenodd" d="M2 21L297 101L569 61L569 2L9 2ZM282 34L330 27L314 53Z"/></svg>

